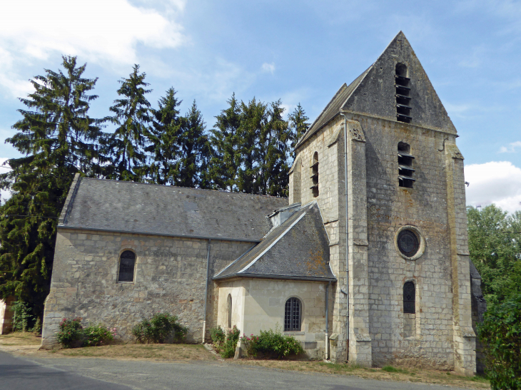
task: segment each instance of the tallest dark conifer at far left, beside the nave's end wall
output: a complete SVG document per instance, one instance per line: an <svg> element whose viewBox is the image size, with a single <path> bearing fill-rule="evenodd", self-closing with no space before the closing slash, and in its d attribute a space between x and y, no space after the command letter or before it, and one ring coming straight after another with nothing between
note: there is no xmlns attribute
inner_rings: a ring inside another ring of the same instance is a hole
<svg viewBox="0 0 521 390"><path fill-rule="evenodd" d="M86 64L63 57L64 71L45 70L31 83L34 93L20 101L17 133L6 143L21 158L8 161L12 170L0 175L12 196L0 208L0 296L14 295L41 315L56 241L56 224L77 172L98 175L103 156L96 141L101 120L88 116L96 78L84 78Z"/></svg>

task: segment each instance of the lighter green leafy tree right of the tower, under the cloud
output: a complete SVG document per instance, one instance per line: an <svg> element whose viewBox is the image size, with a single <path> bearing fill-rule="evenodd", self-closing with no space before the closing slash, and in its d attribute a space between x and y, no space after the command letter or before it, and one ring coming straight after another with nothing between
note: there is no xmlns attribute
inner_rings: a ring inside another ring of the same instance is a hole
<svg viewBox="0 0 521 390"><path fill-rule="evenodd" d="M507 215L495 205L467 210L470 258L482 277L487 304L521 292L521 212Z"/></svg>

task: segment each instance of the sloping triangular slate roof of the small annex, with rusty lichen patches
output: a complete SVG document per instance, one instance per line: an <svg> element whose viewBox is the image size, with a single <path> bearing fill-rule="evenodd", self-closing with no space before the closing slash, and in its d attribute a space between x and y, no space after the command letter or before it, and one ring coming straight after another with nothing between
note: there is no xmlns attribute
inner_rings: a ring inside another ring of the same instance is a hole
<svg viewBox="0 0 521 390"><path fill-rule="evenodd" d="M230 277L336 280L329 266L329 240L317 203L300 208L213 279Z"/></svg>

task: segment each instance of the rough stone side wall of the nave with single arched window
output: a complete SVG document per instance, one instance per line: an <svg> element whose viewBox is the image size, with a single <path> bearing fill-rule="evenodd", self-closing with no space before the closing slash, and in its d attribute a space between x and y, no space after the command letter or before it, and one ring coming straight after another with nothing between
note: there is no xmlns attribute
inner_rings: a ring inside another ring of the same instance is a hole
<svg viewBox="0 0 521 390"><path fill-rule="evenodd" d="M211 242L210 277L248 250L251 242ZM136 253L134 282L118 282L119 255ZM60 230L56 238L51 291L46 299L42 347L56 344L62 318L131 328L157 312L176 314L189 328L188 341L201 342L208 240L112 232ZM216 324L216 284L208 285L208 329Z"/></svg>

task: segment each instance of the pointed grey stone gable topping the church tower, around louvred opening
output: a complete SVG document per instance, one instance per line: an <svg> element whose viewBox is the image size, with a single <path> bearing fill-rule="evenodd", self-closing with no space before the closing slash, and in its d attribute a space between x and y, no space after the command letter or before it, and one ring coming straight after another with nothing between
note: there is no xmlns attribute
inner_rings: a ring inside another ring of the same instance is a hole
<svg viewBox="0 0 521 390"><path fill-rule="evenodd" d="M456 133L447 111L402 31L369 68L363 80L345 101L343 110L396 120L397 63L407 66L410 78L410 123Z"/></svg>

